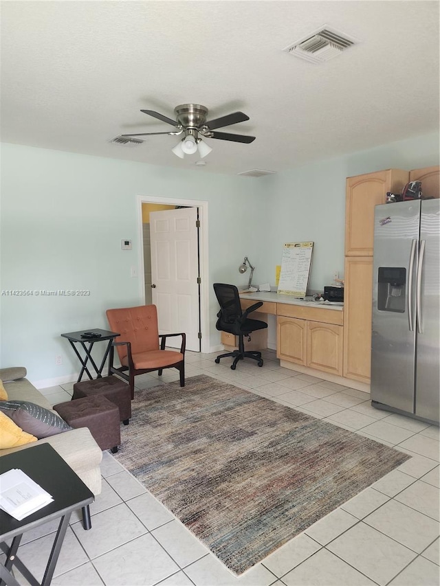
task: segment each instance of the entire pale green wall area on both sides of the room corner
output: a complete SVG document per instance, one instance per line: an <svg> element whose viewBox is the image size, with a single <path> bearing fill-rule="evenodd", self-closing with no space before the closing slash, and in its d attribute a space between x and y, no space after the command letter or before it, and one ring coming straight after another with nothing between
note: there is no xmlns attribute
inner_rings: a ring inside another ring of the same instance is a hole
<svg viewBox="0 0 440 586"><path fill-rule="evenodd" d="M1 290L89 289L84 297L0 297L1 366L32 381L62 379L78 362L60 333L107 328L109 307L142 303L140 195L208 201L209 282L274 285L283 243L314 240L311 289L344 269L345 179L386 168L439 164L439 134L388 144L261 179L179 171L5 144L1 150ZM120 241L133 240L122 251ZM210 287L210 344L217 302ZM103 346L103 345L102 345ZM63 356L63 365L55 357Z"/></svg>

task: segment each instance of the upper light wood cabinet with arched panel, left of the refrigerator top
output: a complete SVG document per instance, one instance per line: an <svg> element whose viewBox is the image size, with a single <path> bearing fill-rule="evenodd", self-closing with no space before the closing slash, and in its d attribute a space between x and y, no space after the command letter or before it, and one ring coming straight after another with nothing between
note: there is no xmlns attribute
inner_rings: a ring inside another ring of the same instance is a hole
<svg viewBox="0 0 440 586"><path fill-rule="evenodd" d="M374 207L386 203L386 192L401 193L409 172L388 169L347 178L345 255L373 256Z"/></svg>

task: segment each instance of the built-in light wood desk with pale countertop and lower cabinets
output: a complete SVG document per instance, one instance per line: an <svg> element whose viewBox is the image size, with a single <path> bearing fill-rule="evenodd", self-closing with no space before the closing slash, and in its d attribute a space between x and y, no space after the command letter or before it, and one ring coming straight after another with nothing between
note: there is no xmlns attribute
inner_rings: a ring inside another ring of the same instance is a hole
<svg viewBox="0 0 440 586"><path fill-rule="evenodd" d="M243 309L262 301L250 317L267 321L276 315L276 356L281 365L305 374L369 391L368 385L344 379L344 307L330 302L301 300L273 291L240 293ZM267 330L261 330L259 348L267 347Z"/></svg>

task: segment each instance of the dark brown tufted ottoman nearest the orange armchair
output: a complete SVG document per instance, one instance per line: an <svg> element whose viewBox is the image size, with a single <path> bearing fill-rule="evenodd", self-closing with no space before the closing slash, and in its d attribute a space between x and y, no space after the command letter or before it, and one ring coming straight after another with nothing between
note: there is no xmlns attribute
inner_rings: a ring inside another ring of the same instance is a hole
<svg viewBox="0 0 440 586"><path fill-rule="evenodd" d="M102 376L101 379L74 384L72 399L91 396L104 396L119 407L119 419L129 425L131 418L130 385L117 376Z"/></svg>

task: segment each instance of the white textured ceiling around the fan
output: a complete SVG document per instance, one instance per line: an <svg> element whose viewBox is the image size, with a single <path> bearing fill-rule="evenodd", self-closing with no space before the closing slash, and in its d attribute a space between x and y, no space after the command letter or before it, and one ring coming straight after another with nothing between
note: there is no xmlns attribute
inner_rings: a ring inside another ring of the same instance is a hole
<svg viewBox="0 0 440 586"><path fill-rule="evenodd" d="M199 172L286 170L439 128L438 1L3 1L1 139ZM360 43L314 65L282 49L329 25ZM177 104L250 120L206 139L126 148L122 133L171 126Z"/></svg>

